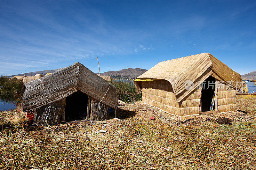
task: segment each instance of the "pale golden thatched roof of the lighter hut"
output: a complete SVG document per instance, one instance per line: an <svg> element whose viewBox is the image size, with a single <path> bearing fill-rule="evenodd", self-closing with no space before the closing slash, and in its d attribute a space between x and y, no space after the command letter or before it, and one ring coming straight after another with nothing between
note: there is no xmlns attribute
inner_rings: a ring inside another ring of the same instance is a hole
<svg viewBox="0 0 256 170"><path fill-rule="evenodd" d="M210 53L190 55L160 62L138 78L164 79L169 81L177 101L180 102L210 75L219 81L223 81L226 85L230 84L232 88L236 88L236 82L240 83L237 89L242 84L240 74L230 69ZM190 90L185 88L187 80L194 82L194 88ZM140 93L141 82L135 79L134 83L137 93Z"/></svg>

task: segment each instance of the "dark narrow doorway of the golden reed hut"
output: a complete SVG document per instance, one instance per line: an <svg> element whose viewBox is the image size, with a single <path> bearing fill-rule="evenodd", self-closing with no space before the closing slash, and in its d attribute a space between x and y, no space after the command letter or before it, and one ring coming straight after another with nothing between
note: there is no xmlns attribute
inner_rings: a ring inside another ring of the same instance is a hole
<svg viewBox="0 0 256 170"><path fill-rule="evenodd" d="M202 84L202 112L210 110L215 91L215 78L209 76ZM213 110L215 105L213 106Z"/></svg>

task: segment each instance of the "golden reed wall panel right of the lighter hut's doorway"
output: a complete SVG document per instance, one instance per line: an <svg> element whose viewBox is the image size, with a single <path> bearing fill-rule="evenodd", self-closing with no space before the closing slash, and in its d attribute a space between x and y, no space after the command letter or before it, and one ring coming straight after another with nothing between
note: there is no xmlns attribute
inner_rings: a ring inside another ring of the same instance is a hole
<svg viewBox="0 0 256 170"><path fill-rule="evenodd" d="M220 112L236 111L236 90L225 84L218 85L218 109Z"/></svg>

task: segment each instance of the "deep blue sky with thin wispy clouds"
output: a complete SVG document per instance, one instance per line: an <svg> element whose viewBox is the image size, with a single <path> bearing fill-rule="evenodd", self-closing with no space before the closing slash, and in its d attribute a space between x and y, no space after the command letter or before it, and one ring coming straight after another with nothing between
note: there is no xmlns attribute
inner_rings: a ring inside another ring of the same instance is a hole
<svg viewBox="0 0 256 170"><path fill-rule="evenodd" d="M209 52L240 74L256 70L256 1L3 1L0 74L150 69Z"/></svg>

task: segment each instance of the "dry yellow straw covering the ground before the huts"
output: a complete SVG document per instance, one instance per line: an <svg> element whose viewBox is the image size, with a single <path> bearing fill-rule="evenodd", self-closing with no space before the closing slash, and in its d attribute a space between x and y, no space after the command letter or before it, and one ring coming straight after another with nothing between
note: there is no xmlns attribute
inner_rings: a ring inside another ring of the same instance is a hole
<svg viewBox="0 0 256 170"><path fill-rule="evenodd" d="M0 166L256 169L256 100L237 103L241 112L177 118L141 101L120 102L116 118L107 121L5 129L0 133ZM156 120L150 121L151 116ZM229 121L219 124L219 118ZM95 133L100 129L107 132Z"/></svg>

